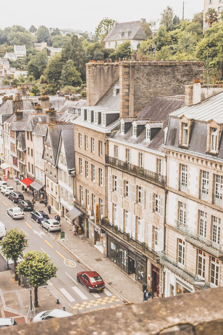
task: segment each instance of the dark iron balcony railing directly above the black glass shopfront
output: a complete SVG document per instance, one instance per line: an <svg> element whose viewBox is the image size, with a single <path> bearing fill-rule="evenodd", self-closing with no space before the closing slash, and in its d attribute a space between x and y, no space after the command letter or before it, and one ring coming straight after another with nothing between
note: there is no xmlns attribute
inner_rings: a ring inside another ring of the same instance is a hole
<svg viewBox="0 0 223 335"><path fill-rule="evenodd" d="M154 251L153 249L146 246L144 243L139 242L135 238L131 237L125 231L121 230L117 226L111 224L106 218L102 218L101 225L107 230L111 231L114 235L118 236L132 247L135 247L139 251L143 252L146 256L153 259L155 262L159 262L159 252Z"/></svg>

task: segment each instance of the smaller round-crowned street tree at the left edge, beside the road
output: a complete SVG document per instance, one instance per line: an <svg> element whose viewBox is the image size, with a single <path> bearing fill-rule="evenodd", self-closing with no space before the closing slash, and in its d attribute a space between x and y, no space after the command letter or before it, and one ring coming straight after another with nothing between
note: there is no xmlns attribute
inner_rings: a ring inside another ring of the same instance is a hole
<svg viewBox="0 0 223 335"><path fill-rule="evenodd" d="M18 228L11 228L6 232L6 236L2 239L2 253L7 259L14 262L15 280L18 280L17 260L23 257L23 250L27 247L27 238Z"/></svg>

